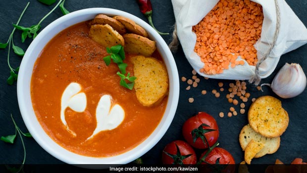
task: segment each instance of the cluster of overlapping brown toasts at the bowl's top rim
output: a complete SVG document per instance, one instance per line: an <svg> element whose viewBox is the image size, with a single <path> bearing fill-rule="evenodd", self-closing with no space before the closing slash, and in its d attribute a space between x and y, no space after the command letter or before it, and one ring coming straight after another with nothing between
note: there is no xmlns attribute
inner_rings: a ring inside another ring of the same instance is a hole
<svg viewBox="0 0 307 173"><path fill-rule="evenodd" d="M151 56L156 49L145 29L126 17L98 14L89 24L90 38L104 47L121 44L125 52L144 56Z"/></svg>

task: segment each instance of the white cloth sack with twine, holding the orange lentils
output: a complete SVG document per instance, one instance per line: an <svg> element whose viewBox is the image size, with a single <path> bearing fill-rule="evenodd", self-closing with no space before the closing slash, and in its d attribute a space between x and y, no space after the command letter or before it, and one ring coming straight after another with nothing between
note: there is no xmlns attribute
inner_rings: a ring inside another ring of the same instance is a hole
<svg viewBox="0 0 307 173"><path fill-rule="evenodd" d="M268 77L274 71L282 54L307 43L306 27L285 0L252 0L262 5L264 15L261 38L254 45L257 50L257 65L245 63L217 75L201 73L199 70L204 67L204 63L194 52L196 34L192 31L192 26L198 24L218 1L172 0L179 41L186 58L202 76L259 83L261 78Z"/></svg>

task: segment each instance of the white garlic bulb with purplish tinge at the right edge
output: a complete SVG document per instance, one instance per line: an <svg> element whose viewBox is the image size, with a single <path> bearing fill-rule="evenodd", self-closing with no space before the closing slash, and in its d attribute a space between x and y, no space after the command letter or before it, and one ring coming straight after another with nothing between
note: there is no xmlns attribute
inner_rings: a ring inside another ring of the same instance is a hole
<svg viewBox="0 0 307 173"><path fill-rule="evenodd" d="M292 98L302 93L306 87L306 75L300 64L286 63L274 77L270 86L282 98Z"/></svg>

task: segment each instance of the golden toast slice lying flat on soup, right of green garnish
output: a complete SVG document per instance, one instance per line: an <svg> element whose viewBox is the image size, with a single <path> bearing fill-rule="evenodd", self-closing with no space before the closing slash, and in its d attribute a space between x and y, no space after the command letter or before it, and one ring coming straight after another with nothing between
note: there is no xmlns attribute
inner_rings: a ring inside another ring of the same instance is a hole
<svg viewBox="0 0 307 173"><path fill-rule="evenodd" d="M155 58L131 58L137 99L144 106L159 103L168 94L168 75L165 66Z"/></svg>

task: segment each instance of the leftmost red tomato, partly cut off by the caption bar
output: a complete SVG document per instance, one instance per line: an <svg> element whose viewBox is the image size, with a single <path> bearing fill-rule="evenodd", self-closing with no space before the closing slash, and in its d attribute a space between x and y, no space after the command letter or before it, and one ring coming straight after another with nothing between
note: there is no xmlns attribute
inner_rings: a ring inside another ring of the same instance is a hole
<svg viewBox="0 0 307 173"><path fill-rule="evenodd" d="M194 149L185 141L172 141L163 149L163 164L196 164L196 161Z"/></svg>

